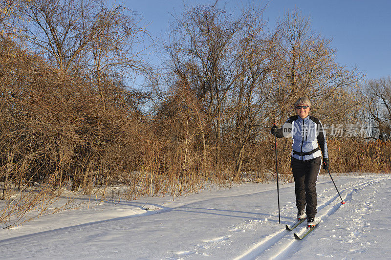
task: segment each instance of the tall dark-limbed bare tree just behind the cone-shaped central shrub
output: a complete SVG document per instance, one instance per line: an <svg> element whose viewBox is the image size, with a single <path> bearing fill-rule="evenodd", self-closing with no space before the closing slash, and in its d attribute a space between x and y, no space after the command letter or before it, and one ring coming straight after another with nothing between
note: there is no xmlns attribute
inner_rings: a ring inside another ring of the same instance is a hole
<svg viewBox="0 0 391 260"><path fill-rule="evenodd" d="M221 106L237 77L231 72L235 65L235 36L243 26L241 19L233 19L232 14L219 10L215 5L198 5L175 20L171 38L165 43L171 58L171 70L179 79L189 82L202 101L202 110L208 118L207 129L214 133L214 136L209 131L203 134L205 149L210 145L217 147L217 164L222 138Z"/></svg>

